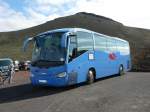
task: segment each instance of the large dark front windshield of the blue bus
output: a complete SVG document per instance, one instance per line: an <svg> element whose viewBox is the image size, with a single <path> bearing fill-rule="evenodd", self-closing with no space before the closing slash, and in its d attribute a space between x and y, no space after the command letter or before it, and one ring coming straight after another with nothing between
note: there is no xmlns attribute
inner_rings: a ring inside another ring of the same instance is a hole
<svg viewBox="0 0 150 112"><path fill-rule="evenodd" d="M58 66L64 64L66 48L63 45L64 32L43 34L35 38L32 54L34 66Z"/></svg>

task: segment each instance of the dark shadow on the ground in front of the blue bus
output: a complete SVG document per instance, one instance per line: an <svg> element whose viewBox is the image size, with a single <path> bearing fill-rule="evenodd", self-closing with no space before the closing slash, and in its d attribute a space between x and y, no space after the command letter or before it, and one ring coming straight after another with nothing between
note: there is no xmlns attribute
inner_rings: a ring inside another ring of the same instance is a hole
<svg viewBox="0 0 150 112"><path fill-rule="evenodd" d="M61 93L77 86L52 88L52 87L34 87L31 84L18 85L0 89L0 104L15 102L25 99L37 98L42 96Z"/></svg>

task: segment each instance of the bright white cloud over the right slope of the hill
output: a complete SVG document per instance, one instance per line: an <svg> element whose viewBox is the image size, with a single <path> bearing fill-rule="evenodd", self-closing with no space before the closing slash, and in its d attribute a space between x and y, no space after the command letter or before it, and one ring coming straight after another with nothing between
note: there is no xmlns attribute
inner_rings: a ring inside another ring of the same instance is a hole
<svg viewBox="0 0 150 112"><path fill-rule="evenodd" d="M149 4L149 0L78 0L75 12L91 12L128 26L150 29Z"/></svg>

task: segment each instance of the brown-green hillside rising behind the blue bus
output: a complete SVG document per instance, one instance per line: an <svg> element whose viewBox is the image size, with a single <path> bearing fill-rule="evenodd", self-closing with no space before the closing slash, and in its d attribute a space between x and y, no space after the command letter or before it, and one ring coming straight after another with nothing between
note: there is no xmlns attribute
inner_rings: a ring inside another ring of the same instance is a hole
<svg viewBox="0 0 150 112"><path fill-rule="evenodd" d="M26 36L34 36L41 32L64 27L85 28L128 40L131 45L133 69L150 71L150 30L127 27L112 19L85 12L57 18L24 30L1 32L0 57L19 60L30 59L30 53L21 52L22 43Z"/></svg>

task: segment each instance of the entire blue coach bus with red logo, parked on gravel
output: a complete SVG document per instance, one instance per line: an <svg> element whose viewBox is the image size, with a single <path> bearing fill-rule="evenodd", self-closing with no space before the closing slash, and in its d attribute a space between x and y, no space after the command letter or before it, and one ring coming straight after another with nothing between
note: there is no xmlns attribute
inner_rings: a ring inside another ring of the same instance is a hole
<svg viewBox="0 0 150 112"><path fill-rule="evenodd" d="M30 79L33 85L66 86L131 68L129 43L81 28L63 28L41 33L24 41L24 50L34 43Z"/></svg>

